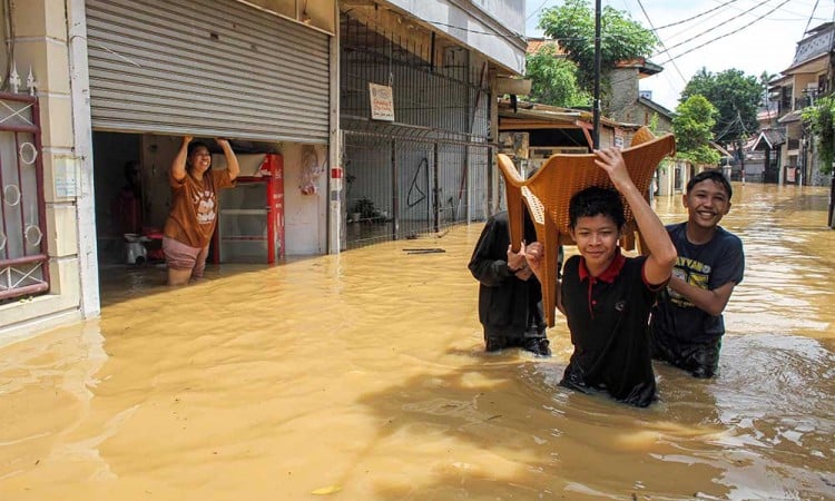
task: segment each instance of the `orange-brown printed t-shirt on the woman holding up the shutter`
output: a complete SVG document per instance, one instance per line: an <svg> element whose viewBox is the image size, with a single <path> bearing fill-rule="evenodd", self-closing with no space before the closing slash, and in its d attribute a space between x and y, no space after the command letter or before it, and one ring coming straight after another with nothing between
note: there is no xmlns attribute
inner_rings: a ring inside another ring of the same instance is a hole
<svg viewBox="0 0 835 501"><path fill-rule="evenodd" d="M168 181L171 212L165 222L165 236L191 247L207 246L217 226L217 190L235 186L229 170L207 170L202 180L186 173L179 181L169 171Z"/></svg>

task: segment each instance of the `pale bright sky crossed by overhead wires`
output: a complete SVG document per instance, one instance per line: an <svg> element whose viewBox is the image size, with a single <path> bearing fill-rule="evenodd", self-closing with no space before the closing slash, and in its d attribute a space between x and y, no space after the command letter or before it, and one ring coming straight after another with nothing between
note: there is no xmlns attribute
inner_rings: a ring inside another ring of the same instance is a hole
<svg viewBox="0 0 835 501"><path fill-rule="evenodd" d="M542 37L537 28L539 16L542 10L562 3L562 0L525 0L525 35ZM588 3L593 9L593 0ZM763 71L777 75L788 68L807 27L812 29L833 20L834 3L834 0L601 0L601 6L611 6L645 28L655 28L662 46L648 59L662 66L664 71L642 79L640 89L650 90L652 100L670 110L676 109L681 90L703 67L711 73L738 69L757 78ZM676 24L665 28L672 23Z"/></svg>

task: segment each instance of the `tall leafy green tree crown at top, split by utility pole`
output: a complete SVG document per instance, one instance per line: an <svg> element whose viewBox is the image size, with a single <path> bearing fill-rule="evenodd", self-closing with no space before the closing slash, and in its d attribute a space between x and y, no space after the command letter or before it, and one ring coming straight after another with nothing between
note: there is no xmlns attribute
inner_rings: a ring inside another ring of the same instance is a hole
<svg viewBox="0 0 835 501"><path fill-rule="evenodd" d="M539 28L556 39L566 57L577 63L580 88L593 92L595 85L595 10L587 0L566 0L560 7L546 9ZM601 81L615 63L647 58L658 46L652 31L629 18L629 14L606 6L600 13ZM601 89L605 84L601 85Z"/></svg>

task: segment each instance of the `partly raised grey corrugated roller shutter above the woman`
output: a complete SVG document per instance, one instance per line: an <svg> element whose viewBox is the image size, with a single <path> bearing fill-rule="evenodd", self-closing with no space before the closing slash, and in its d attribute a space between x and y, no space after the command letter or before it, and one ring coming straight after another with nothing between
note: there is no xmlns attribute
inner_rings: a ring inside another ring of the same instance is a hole
<svg viewBox="0 0 835 501"><path fill-rule="evenodd" d="M327 143L328 36L234 0L87 0L92 127Z"/></svg>

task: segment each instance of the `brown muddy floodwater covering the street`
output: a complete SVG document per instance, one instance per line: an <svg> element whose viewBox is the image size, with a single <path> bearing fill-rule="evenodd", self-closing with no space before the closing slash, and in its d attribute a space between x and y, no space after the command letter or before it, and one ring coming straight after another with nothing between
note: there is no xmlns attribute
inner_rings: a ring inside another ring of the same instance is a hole
<svg viewBox="0 0 835 501"><path fill-rule="evenodd" d="M658 364L644 410L557 385L560 316L550 360L483 353L481 224L180 289L102 268L99 321L0 348L0 500L835 499L828 190L735 190L721 374Z"/></svg>

